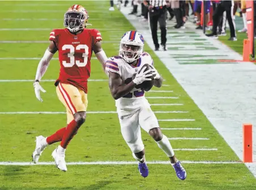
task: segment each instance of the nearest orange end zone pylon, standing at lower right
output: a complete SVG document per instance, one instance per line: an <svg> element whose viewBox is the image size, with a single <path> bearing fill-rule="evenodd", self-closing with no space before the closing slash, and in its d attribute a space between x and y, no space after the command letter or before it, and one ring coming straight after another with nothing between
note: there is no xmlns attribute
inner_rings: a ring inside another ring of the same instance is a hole
<svg viewBox="0 0 256 190"><path fill-rule="evenodd" d="M243 131L243 161L253 162L253 125L244 123Z"/></svg>

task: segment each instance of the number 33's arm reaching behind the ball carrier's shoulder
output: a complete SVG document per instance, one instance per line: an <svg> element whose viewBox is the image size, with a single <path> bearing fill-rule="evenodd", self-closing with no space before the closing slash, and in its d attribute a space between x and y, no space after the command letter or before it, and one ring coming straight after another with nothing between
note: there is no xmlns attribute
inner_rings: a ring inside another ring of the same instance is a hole
<svg viewBox="0 0 256 190"><path fill-rule="evenodd" d="M105 51L103 50L103 48L101 47L101 34L98 30L93 30L93 33L95 33L93 36L93 46L92 46L92 50L95 53L97 59L100 61L104 72L106 73L106 75L108 76L108 72L105 70L105 63L106 60L108 60L108 57L105 54Z"/></svg>

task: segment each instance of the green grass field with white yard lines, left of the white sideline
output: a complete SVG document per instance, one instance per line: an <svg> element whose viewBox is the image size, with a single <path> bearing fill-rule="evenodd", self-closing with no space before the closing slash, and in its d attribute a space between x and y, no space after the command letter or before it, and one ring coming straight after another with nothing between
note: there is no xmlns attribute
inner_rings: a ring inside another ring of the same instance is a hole
<svg viewBox="0 0 256 190"><path fill-rule="evenodd" d="M76 1L89 13L90 28L99 29L103 48L108 56L116 55L119 41L127 30L134 29L119 12L109 12L109 1ZM65 112L58 100L54 82L41 82L47 91L44 103L36 99L32 81L39 60L12 58L41 58L49 42L22 43L18 41L48 41L54 28L63 28L63 14L73 3L69 1L1 1L0 11L0 162L31 162L35 136L48 136L66 126L66 114L16 114L15 112ZM55 6L53 6L55 5ZM21 11L22 10L22 11ZM47 12L49 10L49 12ZM22 20L20 20L22 19ZM40 20L44 19L44 20ZM54 20L55 19L55 20ZM5 28L5 29L3 29ZM29 28L28 30L20 30ZM34 29L34 30L33 30ZM3 41L15 41L7 43ZM172 140L174 149L209 149L208 151L175 151L181 161L235 162L239 161L206 116L186 94L164 64L146 45L155 67L165 79L161 89L173 92L148 92L153 111L186 111L187 113L156 113L159 120L191 119L195 121L159 121L168 138L209 138L209 140ZM54 58L58 58L57 54ZM108 79L100 63L91 60L90 79ZM58 60L52 60L42 79L56 79ZM3 81L7 80L7 81ZM24 80L24 81L14 81ZM174 96L177 99L154 99ZM88 112L116 111L108 81L89 81ZM206 100L207 101L207 100ZM7 114L3 114L3 112ZM200 128L200 130L164 130L165 128ZM151 137L142 131L147 161L168 161ZM40 162L52 162L51 153L58 144L50 145ZM215 149L215 151L211 151ZM67 162L134 161L120 132L117 114L88 113L66 152ZM137 166L132 165L68 165L63 173L54 165L0 165L0 189L255 189L255 178L244 164L183 164L187 171L185 181L178 180L172 166L148 164L150 175L144 179Z"/></svg>

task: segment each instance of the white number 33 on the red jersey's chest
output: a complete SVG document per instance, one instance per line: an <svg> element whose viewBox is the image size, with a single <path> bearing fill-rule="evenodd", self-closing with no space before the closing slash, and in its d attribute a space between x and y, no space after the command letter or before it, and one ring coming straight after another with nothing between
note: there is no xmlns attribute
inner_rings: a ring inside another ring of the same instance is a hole
<svg viewBox="0 0 256 190"><path fill-rule="evenodd" d="M70 63L67 63L67 61L62 61L62 65L64 67L73 67L74 64L78 65L78 67L86 67L87 60L88 60L88 54L89 54L89 47L87 45L79 44L78 46L74 47L72 45L64 45L62 46L62 50L69 49L70 53L67 54L67 56L70 58ZM81 50L84 49L83 58L84 61L80 62L80 60L75 60L75 50Z"/></svg>

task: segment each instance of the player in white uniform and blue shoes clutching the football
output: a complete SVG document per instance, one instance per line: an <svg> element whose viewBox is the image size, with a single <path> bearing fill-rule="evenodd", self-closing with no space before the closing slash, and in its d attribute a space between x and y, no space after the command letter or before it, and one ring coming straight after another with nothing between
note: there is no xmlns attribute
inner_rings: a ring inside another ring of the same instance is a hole
<svg viewBox="0 0 256 190"><path fill-rule="evenodd" d="M152 136L159 148L170 158L170 163L179 179L186 179L186 171L181 162L174 156L174 152L167 136L163 135L157 118L144 96L144 90L137 85L154 79L154 85L161 87L163 78L153 67L153 60L147 52L143 52L144 39L136 31L126 32L120 43L118 56L106 61L106 70L109 73L109 89L116 100L118 118L121 125L123 139L130 147L138 163L140 175L148 176L148 167L145 159L145 149L141 138L140 127ZM152 69L141 69L144 64L150 64ZM141 69L141 70L140 70Z"/></svg>

